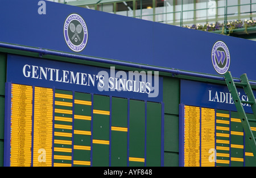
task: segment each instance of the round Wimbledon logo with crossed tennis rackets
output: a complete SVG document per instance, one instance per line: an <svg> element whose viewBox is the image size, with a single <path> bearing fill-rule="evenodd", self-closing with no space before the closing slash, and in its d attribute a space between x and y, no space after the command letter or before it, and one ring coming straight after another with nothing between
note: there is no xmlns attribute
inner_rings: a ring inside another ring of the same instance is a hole
<svg viewBox="0 0 256 178"><path fill-rule="evenodd" d="M80 52L85 48L88 31L84 19L78 14L71 14L65 19L64 38L72 51Z"/></svg>

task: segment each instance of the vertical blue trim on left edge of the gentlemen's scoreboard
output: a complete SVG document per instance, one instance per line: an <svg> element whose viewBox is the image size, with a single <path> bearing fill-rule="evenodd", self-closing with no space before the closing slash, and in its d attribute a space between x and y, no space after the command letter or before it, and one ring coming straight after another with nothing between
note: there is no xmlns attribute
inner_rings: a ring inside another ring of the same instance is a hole
<svg viewBox="0 0 256 178"><path fill-rule="evenodd" d="M5 84L5 139L3 149L3 166L10 166L11 149L11 83Z"/></svg>

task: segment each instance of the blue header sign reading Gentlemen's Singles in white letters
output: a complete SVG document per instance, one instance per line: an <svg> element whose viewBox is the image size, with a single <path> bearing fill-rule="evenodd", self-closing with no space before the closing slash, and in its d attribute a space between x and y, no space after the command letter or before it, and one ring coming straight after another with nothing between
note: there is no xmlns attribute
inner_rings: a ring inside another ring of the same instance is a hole
<svg viewBox="0 0 256 178"><path fill-rule="evenodd" d="M9 55L7 82L137 100L162 101L162 77L152 71L119 71Z"/></svg>

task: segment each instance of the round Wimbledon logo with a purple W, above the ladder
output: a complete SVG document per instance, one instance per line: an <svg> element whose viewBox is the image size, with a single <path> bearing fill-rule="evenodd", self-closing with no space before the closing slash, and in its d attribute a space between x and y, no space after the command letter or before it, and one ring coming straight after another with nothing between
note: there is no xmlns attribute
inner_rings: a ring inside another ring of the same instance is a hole
<svg viewBox="0 0 256 178"><path fill-rule="evenodd" d="M212 47L212 64L216 72L224 74L230 67L230 53L224 42L218 41Z"/></svg>

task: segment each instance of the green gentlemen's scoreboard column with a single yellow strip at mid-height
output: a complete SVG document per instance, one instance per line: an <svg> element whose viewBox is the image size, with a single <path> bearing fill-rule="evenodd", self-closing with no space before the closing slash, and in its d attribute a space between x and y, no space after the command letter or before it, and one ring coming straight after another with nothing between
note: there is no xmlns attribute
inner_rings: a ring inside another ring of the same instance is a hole
<svg viewBox="0 0 256 178"><path fill-rule="evenodd" d="M127 99L112 98L111 165L127 166Z"/></svg>

